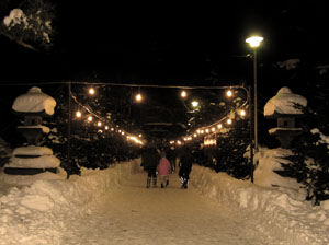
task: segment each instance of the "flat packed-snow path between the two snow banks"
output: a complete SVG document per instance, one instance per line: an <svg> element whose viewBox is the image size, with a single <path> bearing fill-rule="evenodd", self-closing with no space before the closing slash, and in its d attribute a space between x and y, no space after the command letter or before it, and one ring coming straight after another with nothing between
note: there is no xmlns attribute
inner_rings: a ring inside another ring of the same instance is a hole
<svg viewBox="0 0 329 245"><path fill-rule="evenodd" d="M131 175L107 191L92 214L67 220L66 244L281 244L253 231L252 217L232 213L192 186L181 189L177 174L167 188L146 187L146 173Z"/></svg>

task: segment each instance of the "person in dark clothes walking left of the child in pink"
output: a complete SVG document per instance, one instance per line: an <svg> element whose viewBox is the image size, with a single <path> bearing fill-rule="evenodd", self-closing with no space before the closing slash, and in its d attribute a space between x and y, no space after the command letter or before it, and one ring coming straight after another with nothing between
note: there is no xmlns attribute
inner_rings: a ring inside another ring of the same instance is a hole
<svg viewBox="0 0 329 245"><path fill-rule="evenodd" d="M154 180L154 187L157 187L157 166L159 163L159 154L155 148L148 148L143 158L143 165L147 170L146 188L150 187L151 179Z"/></svg>

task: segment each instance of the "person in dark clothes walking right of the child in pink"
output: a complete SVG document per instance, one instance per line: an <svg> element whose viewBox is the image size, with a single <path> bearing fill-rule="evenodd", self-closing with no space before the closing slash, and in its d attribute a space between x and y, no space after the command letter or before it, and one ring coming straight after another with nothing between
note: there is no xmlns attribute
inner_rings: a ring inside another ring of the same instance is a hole
<svg viewBox="0 0 329 245"><path fill-rule="evenodd" d="M192 171L193 156L189 148L183 148L179 162L179 177L182 183L182 188L188 189L190 173Z"/></svg>

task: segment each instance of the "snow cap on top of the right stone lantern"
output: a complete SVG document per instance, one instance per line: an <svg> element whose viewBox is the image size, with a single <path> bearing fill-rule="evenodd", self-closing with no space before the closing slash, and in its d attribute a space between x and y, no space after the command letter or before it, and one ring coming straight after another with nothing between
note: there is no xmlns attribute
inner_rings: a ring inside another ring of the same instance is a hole
<svg viewBox="0 0 329 245"><path fill-rule="evenodd" d="M277 94L272 97L264 106L264 116L271 117L275 114L279 115L300 115L300 108L296 105L306 106L307 100L302 95L294 94L290 88L283 86L279 90Z"/></svg>

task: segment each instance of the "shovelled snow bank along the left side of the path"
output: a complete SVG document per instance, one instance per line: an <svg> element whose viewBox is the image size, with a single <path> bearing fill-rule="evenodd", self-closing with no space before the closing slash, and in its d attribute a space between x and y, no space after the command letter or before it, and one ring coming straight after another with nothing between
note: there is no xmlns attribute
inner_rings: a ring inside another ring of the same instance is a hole
<svg viewBox="0 0 329 245"><path fill-rule="evenodd" d="M106 190L117 188L136 164L132 161L104 171L82 170L81 177L68 180L53 179L58 176L44 173L47 179L0 191L4 194L0 197L0 244L66 244L63 234L70 228L60 222L61 218L91 214L91 203ZM0 175L0 188L8 186L5 177Z"/></svg>

